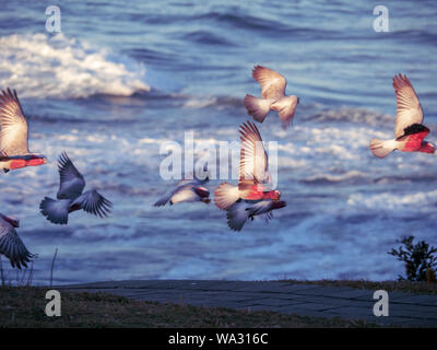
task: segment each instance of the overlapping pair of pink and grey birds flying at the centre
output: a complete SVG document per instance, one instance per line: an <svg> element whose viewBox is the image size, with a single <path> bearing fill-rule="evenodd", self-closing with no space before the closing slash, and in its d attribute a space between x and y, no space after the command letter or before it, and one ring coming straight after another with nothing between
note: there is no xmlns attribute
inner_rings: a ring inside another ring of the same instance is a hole
<svg viewBox="0 0 437 350"><path fill-rule="evenodd" d="M268 155L257 126L250 121L239 127L240 158L238 186L222 183L214 191L214 202L227 211L227 223L232 230L240 231L248 219L267 214L286 206L279 190L269 190L271 175Z"/></svg>

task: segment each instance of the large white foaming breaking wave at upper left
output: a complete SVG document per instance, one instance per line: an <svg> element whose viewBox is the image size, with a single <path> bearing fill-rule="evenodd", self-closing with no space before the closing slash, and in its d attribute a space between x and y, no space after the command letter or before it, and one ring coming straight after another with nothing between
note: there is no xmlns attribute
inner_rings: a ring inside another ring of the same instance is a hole
<svg viewBox="0 0 437 350"><path fill-rule="evenodd" d="M94 48L62 33L0 37L0 86L24 97L131 95L149 91L145 69L127 57Z"/></svg>

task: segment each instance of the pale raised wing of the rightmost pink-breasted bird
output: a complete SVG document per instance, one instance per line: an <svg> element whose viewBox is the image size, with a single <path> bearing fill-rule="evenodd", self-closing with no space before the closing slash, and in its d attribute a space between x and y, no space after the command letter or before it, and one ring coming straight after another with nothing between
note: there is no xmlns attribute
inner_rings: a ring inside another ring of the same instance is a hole
<svg viewBox="0 0 437 350"><path fill-rule="evenodd" d="M395 75L393 78L393 88L398 106L394 135L400 138L404 135L405 128L413 124L422 124L423 112L418 97L406 75Z"/></svg>

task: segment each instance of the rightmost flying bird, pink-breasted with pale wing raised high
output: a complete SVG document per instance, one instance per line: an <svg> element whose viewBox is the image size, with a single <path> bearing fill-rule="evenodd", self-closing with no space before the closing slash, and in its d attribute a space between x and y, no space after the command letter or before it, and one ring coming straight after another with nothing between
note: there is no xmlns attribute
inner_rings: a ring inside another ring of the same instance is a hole
<svg viewBox="0 0 437 350"><path fill-rule="evenodd" d="M395 118L394 140L370 140L370 151L377 158L385 158L394 150L402 152L434 153L434 144L425 141L429 129L422 125L423 110L413 85L406 75L393 78L398 115Z"/></svg>

